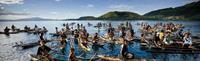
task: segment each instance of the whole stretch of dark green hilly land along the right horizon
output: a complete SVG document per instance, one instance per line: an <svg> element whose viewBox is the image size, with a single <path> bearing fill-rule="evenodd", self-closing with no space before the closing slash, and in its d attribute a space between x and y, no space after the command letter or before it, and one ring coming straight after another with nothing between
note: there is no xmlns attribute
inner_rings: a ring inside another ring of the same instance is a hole
<svg viewBox="0 0 200 61"><path fill-rule="evenodd" d="M128 11L112 11L99 17L83 16L68 20L200 20L200 1L174 8L164 8L139 15Z"/></svg>

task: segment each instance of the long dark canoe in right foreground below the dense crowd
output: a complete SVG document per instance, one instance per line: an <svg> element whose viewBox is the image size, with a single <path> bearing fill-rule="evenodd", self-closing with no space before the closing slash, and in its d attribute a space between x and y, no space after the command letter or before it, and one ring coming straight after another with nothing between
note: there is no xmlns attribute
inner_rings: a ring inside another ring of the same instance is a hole
<svg viewBox="0 0 200 61"><path fill-rule="evenodd" d="M191 53L198 53L200 54L200 46L193 46L193 48L188 48L188 47L180 47L180 44L177 45L170 45L170 46L165 46L164 48L159 48L156 46L147 46L145 43L141 43L142 45L140 46L142 50L151 52L151 53L179 53L179 54L191 54ZM179 47L178 47L179 46Z"/></svg>

